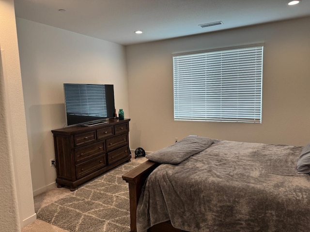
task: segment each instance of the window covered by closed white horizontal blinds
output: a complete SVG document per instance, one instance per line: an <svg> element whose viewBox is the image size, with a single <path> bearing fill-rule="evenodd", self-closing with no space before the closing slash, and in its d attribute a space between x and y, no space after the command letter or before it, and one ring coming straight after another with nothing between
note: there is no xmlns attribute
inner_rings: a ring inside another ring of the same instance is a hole
<svg viewBox="0 0 310 232"><path fill-rule="evenodd" d="M263 45L173 55L174 119L261 123Z"/></svg>

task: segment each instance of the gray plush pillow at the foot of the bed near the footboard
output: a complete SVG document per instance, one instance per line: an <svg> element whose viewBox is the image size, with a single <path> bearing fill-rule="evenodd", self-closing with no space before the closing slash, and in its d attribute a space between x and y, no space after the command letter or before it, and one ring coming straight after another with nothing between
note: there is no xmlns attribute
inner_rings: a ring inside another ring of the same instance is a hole
<svg viewBox="0 0 310 232"><path fill-rule="evenodd" d="M173 145L146 155L145 158L157 163L179 164L212 144L213 140L206 137L187 136Z"/></svg>

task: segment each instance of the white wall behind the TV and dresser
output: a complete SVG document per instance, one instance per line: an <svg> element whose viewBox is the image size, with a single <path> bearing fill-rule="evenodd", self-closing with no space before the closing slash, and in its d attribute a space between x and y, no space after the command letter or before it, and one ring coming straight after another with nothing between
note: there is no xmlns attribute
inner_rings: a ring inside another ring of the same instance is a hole
<svg viewBox="0 0 310 232"><path fill-rule="evenodd" d="M34 195L55 186L51 130L65 124L63 83L114 84L129 117L124 46L17 18Z"/></svg>

